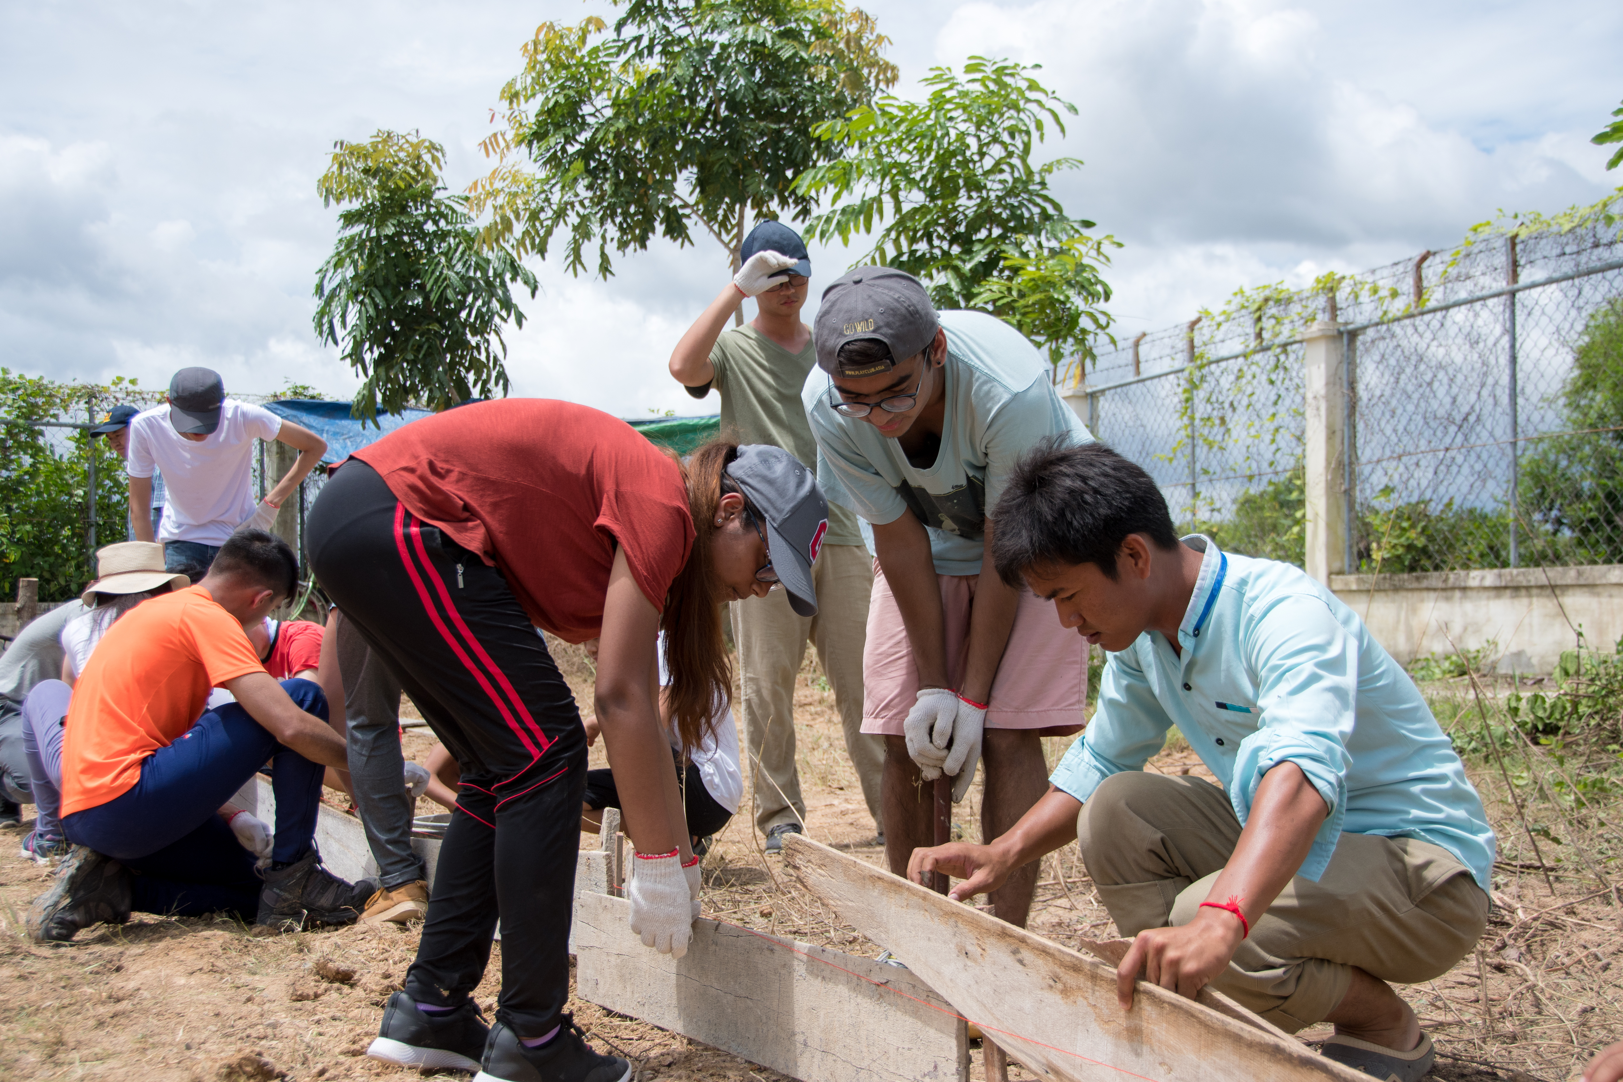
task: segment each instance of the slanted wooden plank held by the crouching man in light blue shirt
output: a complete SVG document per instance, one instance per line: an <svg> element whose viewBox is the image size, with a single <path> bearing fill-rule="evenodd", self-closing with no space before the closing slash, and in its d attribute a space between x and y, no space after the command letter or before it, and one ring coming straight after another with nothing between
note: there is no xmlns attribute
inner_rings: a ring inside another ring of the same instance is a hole
<svg viewBox="0 0 1623 1082"><path fill-rule="evenodd" d="M805 835L786 835L784 863L842 920L1045 1077L1368 1082L1277 1030L1143 981L1133 1009L1123 1012L1113 967Z"/></svg>

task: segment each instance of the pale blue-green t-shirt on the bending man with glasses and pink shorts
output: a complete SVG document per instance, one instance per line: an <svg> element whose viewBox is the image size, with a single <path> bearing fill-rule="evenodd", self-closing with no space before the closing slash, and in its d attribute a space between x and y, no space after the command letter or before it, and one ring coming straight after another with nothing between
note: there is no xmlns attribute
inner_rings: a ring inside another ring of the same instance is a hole
<svg viewBox="0 0 1623 1082"><path fill-rule="evenodd" d="M875 526L911 511L930 534L936 573L980 574L985 517L1021 456L1045 436L1092 443L1092 435L1060 401L1048 363L1019 331L984 311L941 311L940 320L946 417L930 466L909 462L901 444L867 420L837 414L828 376L815 373L803 401L816 438L818 483L831 503Z"/></svg>

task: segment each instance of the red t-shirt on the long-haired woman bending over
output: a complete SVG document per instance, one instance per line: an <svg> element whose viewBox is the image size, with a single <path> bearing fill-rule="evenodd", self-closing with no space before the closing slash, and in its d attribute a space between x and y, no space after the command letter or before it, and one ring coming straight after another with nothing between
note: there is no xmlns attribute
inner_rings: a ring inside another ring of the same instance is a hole
<svg viewBox="0 0 1623 1082"><path fill-rule="evenodd" d="M502 568L531 623L602 633L615 545L664 612L693 552L675 461L588 406L500 399L424 417L355 451L406 509Z"/></svg>

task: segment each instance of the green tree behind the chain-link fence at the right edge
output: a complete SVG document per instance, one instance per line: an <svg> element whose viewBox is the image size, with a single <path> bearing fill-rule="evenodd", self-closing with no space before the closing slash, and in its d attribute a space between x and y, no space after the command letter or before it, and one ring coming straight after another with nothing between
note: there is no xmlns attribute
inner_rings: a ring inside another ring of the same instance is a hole
<svg viewBox="0 0 1623 1082"><path fill-rule="evenodd" d="M1522 513L1569 535L1584 561L1623 561L1623 297L1600 307L1561 388L1569 435L1539 440L1521 462Z"/></svg>

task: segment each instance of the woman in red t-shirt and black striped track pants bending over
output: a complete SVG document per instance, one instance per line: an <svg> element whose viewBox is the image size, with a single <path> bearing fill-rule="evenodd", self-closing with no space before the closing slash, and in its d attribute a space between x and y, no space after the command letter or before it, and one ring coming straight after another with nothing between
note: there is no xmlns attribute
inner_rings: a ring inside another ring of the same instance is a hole
<svg viewBox="0 0 1623 1082"><path fill-rule="evenodd" d="M307 532L315 573L461 769L417 959L370 1056L484 1082L630 1079L563 1014L586 733L536 628L602 638L597 720L638 850L631 928L680 955L700 869L659 728L656 636L695 748L730 688L721 603L782 582L815 612L826 524L787 451L714 441L678 462L623 420L545 399L424 417L328 480ZM487 1030L471 996L498 921Z"/></svg>

